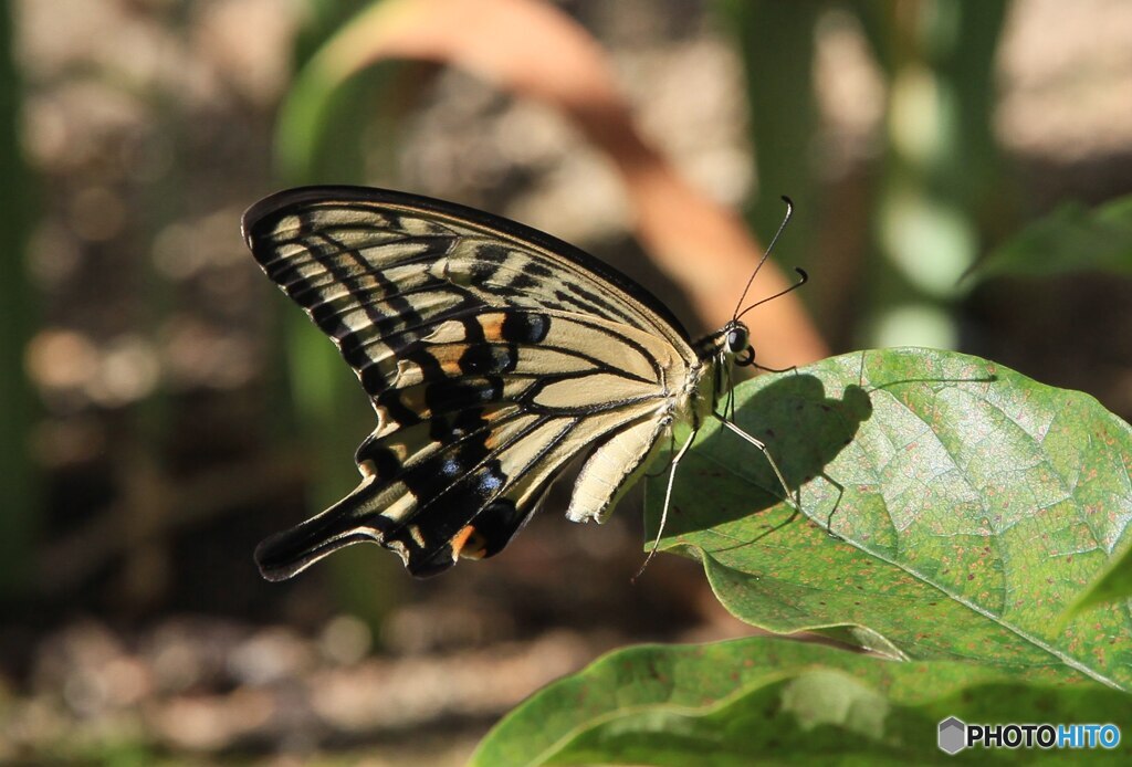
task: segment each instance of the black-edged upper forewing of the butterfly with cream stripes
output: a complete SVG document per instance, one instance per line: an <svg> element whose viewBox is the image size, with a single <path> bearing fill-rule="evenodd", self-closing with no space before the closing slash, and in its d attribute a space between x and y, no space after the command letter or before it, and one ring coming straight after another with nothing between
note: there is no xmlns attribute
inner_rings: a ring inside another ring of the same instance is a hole
<svg viewBox="0 0 1132 767"><path fill-rule="evenodd" d="M472 208L316 187L261 200L245 214L243 231L267 275L355 367L355 344L419 335L477 305L575 312L693 355L679 321L632 279L560 240Z"/></svg>

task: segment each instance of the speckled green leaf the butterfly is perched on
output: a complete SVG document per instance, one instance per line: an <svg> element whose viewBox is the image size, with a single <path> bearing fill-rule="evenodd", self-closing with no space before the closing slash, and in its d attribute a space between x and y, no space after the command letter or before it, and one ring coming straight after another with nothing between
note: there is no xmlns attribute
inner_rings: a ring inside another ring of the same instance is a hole
<svg viewBox="0 0 1132 767"><path fill-rule="evenodd" d="M925 350L833 357L737 397L803 514L757 450L709 424L661 541L703 562L731 613L901 657L1132 686L1126 605L1060 626L1130 537L1132 430L1092 397ZM653 531L664 481L648 486Z"/></svg>

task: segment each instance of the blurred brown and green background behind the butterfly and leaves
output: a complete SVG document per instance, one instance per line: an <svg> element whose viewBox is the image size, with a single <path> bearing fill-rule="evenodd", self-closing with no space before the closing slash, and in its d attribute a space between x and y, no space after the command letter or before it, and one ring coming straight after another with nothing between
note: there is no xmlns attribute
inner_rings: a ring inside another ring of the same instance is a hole
<svg viewBox="0 0 1132 767"><path fill-rule="evenodd" d="M651 188L594 140L601 114L580 124L538 83L509 85L529 53L503 21L453 28L463 0L377 5L2 6L5 762L460 764L607 649L747 632L693 562L659 557L629 583L640 493L599 528L567 524L559 489L505 553L432 580L372 546L259 578L255 544L352 489L372 428L246 252L240 214L264 195L457 200L616 264L693 331L713 320L650 260ZM957 348L1132 413L1125 277L977 267L1058 206L1132 192L1132 5L489 7L556 8L522 36L548 55L555 29L591 41L659 166L762 242L794 198L777 260L809 270L811 319L787 333L833 353ZM806 361L790 354L760 351Z"/></svg>

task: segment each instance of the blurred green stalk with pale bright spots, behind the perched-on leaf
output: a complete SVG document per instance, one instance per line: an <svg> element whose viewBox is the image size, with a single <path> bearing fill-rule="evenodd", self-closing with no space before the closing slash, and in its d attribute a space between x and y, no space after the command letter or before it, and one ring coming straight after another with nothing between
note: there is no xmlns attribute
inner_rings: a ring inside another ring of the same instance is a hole
<svg viewBox="0 0 1132 767"><path fill-rule="evenodd" d="M1001 207L992 132L995 54L1009 3L855 2L886 77L884 172L866 275L866 345L954 348L951 310ZM996 209L994 213L998 213Z"/></svg>

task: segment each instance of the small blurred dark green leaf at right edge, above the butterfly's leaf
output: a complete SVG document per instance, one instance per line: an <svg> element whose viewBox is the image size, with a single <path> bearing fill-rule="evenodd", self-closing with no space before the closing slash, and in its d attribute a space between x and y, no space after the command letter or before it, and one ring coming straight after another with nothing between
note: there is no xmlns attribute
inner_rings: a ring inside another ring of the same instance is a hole
<svg viewBox="0 0 1132 767"><path fill-rule="evenodd" d="M1064 204L993 250L977 269L983 277L1132 274L1132 195L1091 210Z"/></svg>

